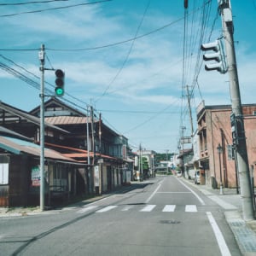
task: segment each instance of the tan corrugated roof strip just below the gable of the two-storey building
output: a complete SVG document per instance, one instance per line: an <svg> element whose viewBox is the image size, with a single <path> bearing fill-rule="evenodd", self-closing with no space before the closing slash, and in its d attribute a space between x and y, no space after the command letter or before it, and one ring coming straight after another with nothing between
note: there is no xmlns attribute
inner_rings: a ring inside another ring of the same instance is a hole
<svg viewBox="0 0 256 256"><path fill-rule="evenodd" d="M86 124L87 118L81 116L53 116L45 118L45 121L51 125L79 125ZM90 118L88 118L90 122Z"/></svg>

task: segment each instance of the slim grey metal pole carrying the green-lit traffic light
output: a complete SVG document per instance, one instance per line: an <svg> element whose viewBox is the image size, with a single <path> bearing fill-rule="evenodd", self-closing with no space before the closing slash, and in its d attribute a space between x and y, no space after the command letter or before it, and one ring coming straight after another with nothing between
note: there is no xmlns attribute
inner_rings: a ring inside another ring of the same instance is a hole
<svg viewBox="0 0 256 256"><path fill-rule="evenodd" d="M44 211L44 44L39 51L41 62L41 105L40 105L40 210Z"/></svg>

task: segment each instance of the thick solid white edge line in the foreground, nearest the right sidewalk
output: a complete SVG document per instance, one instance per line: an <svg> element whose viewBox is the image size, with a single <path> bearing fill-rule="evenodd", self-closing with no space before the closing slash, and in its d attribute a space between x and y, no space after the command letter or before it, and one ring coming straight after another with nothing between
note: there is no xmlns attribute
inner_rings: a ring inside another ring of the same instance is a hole
<svg viewBox="0 0 256 256"><path fill-rule="evenodd" d="M216 237L218 242L218 247L220 252L223 256L231 256L229 247L227 246L226 242L224 241L224 236L222 235L221 231L218 228L218 224L216 223L215 219L212 216L212 212L207 212L207 217L209 219L210 224L212 225L213 233Z"/></svg>

